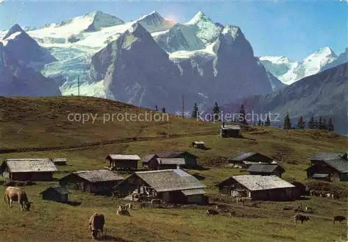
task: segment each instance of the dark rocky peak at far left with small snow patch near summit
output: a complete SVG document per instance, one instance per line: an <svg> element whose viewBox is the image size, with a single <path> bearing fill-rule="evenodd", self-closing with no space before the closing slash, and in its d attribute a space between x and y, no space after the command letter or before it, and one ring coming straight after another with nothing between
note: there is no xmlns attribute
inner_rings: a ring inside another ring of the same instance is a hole
<svg viewBox="0 0 348 242"><path fill-rule="evenodd" d="M38 70L55 61L17 24L0 41L1 96L60 96L58 85Z"/></svg>

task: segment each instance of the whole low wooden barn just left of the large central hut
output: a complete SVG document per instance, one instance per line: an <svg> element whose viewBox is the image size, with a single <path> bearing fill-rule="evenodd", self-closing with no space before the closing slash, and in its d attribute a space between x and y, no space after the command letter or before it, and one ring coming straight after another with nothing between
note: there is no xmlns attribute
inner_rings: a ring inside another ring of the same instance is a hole
<svg viewBox="0 0 348 242"><path fill-rule="evenodd" d="M109 194L124 178L109 170L76 171L59 180L62 187L89 193Z"/></svg>

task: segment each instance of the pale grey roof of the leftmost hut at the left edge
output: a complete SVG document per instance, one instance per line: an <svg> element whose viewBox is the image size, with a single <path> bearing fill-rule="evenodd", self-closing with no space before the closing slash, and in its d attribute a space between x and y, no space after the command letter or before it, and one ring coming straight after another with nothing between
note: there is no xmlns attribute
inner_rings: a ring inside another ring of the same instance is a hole
<svg viewBox="0 0 348 242"><path fill-rule="evenodd" d="M58 171L51 159L5 159L0 171L3 172L6 166L12 173Z"/></svg>

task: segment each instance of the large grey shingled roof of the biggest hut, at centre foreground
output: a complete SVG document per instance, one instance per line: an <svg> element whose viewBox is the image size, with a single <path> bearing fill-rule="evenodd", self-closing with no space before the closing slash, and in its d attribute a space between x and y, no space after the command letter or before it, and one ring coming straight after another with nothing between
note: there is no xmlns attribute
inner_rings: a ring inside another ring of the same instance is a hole
<svg viewBox="0 0 348 242"><path fill-rule="evenodd" d="M197 178L180 169L138 171L132 175L138 176L157 192L205 188L205 185L202 184ZM116 185L116 187L119 185L120 184Z"/></svg>

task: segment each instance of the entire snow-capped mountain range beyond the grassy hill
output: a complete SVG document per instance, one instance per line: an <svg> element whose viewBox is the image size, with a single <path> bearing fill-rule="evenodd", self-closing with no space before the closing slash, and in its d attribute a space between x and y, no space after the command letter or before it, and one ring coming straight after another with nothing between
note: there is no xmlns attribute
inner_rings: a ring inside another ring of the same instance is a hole
<svg viewBox="0 0 348 242"><path fill-rule="evenodd" d="M336 80L330 85L322 73L335 72L347 55L347 49L336 55L324 47L302 61L257 57L241 28L215 23L203 12L175 23L158 12L125 22L97 11L0 31L0 95L76 95L79 89L168 112L181 110L184 96L190 109L193 103L203 110L214 102L230 103L223 106L228 109L252 101L260 110L292 107L294 117L298 110L307 117L338 104L331 92L342 96L345 87Z"/></svg>

